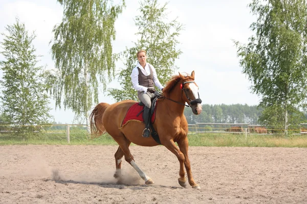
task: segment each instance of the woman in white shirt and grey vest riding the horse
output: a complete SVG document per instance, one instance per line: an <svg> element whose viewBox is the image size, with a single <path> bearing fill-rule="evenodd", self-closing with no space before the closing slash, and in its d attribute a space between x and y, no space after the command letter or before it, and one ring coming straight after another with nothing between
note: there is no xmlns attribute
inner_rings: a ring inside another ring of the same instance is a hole
<svg viewBox="0 0 307 204"><path fill-rule="evenodd" d="M140 50L137 53L137 57L139 63L132 70L130 77L133 88L138 91L138 98L145 105L143 113L145 129L142 135L143 137L149 137L149 112L151 107L151 98L155 95L154 93L156 92L156 90L153 89L153 85L155 84L160 90L163 89L163 86L157 78L157 72L155 67L153 67L149 63L146 63L146 51Z"/></svg>

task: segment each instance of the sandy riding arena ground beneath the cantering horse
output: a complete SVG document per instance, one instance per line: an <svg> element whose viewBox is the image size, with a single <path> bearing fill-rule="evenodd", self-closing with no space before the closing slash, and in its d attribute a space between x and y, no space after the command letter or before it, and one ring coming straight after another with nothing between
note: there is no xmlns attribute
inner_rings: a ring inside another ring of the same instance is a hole
<svg viewBox="0 0 307 204"><path fill-rule="evenodd" d="M130 147L156 183L147 186L117 146L0 146L0 203L307 203L307 149L190 147L201 190L178 184L179 162L164 146Z"/></svg>

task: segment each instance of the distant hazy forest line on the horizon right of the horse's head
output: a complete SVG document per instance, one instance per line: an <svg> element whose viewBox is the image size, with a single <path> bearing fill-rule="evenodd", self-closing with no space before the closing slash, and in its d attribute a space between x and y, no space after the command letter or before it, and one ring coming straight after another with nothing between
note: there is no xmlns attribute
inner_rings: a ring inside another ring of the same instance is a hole
<svg viewBox="0 0 307 204"><path fill-rule="evenodd" d="M191 108L185 108L184 114L189 124L196 122L212 123L250 123L257 124L262 108L242 104L203 105L201 115L194 115Z"/></svg>

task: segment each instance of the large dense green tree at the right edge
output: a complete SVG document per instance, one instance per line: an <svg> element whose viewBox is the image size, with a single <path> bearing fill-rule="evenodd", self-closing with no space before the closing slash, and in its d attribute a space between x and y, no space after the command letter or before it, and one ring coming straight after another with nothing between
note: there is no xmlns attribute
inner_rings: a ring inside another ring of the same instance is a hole
<svg viewBox="0 0 307 204"><path fill-rule="evenodd" d="M267 112L262 123L277 117L285 133L299 109L305 107L307 88L307 5L304 0L259 1L249 5L257 16L251 24L255 35L246 45L235 42L243 73L252 82L252 92L261 96Z"/></svg>

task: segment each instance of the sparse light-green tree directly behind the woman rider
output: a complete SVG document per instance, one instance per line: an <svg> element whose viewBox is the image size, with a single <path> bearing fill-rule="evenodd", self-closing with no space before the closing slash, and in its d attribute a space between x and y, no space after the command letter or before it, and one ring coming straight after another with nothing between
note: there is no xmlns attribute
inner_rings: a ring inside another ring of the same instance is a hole
<svg viewBox="0 0 307 204"><path fill-rule="evenodd" d="M157 0L143 0L140 2L141 15L136 16L135 22L138 27L137 36L140 39L134 47L126 48L121 53L125 68L118 75L118 81L122 89L109 89L109 96L117 101L124 99L138 100L137 92L132 87L130 74L137 64L137 52L145 49L147 62L156 68L157 76L161 84L170 79L173 71L177 69L174 61L182 53L177 48L177 37L183 29L182 24L176 19L168 21L166 5L160 7Z"/></svg>

